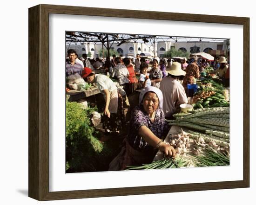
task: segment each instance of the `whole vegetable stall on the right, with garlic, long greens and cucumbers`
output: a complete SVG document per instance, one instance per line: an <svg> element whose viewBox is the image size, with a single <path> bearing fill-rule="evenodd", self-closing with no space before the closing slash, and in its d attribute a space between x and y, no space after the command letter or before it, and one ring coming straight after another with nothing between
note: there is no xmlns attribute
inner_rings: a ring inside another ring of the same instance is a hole
<svg viewBox="0 0 256 205"><path fill-rule="evenodd" d="M229 165L229 90L218 78L208 76L200 82L191 105L190 111L183 109L168 120L171 128L164 142L175 148L176 157L158 151L151 164L128 169Z"/></svg>

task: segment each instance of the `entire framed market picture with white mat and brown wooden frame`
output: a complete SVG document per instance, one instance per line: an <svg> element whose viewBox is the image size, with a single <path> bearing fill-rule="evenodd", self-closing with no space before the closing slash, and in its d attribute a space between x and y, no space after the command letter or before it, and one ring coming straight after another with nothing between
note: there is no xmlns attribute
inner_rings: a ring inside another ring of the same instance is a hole
<svg viewBox="0 0 256 205"><path fill-rule="evenodd" d="M29 197L249 187L249 18L37 5L28 19Z"/></svg>

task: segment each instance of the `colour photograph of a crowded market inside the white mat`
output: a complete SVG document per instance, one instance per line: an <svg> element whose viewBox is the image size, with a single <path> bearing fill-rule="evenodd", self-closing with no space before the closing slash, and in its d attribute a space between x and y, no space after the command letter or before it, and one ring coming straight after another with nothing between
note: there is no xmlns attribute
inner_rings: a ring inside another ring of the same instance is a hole
<svg viewBox="0 0 256 205"><path fill-rule="evenodd" d="M65 59L66 173L229 166L229 39L71 31Z"/></svg>

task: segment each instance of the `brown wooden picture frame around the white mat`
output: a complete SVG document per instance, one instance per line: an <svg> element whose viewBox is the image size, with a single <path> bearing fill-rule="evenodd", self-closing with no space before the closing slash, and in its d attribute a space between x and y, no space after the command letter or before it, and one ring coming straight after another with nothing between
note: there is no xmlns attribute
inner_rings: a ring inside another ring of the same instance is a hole
<svg viewBox="0 0 256 205"><path fill-rule="evenodd" d="M49 14L243 25L243 180L49 192ZM29 190L37 200L79 199L249 187L249 18L78 6L29 8Z"/></svg>

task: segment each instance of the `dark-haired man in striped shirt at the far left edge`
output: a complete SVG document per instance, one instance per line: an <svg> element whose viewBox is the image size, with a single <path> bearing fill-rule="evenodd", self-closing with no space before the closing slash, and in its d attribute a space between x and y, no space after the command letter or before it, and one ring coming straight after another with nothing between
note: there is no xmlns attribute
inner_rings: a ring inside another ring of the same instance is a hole
<svg viewBox="0 0 256 205"><path fill-rule="evenodd" d="M81 75L83 66L75 61L77 58L77 53L74 49L69 49L67 51L68 59L66 61L66 77L78 73Z"/></svg>

